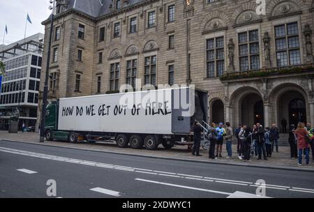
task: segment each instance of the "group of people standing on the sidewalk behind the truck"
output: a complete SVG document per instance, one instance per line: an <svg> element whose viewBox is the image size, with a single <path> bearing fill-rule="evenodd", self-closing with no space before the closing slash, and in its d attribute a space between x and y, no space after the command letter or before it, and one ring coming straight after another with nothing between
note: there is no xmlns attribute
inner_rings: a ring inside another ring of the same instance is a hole
<svg viewBox="0 0 314 212"><path fill-rule="evenodd" d="M204 126L195 121L194 140L192 154L200 155L200 142ZM230 123L211 123L211 126L206 126L206 137L209 139L209 158L222 158L223 142L225 141L227 157L232 158L232 142L237 139L237 154L239 160L251 162L251 157L257 157L257 160L268 160L272 153L279 152L278 139L279 130L275 123L271 127L264 128L260 123L256 123L252 128L246 125L239 124L239 128L232 130ZM306 156L306 165L309 164L309 152L312 152L314 160L314 132L311 124L299 123L297 128L292 125L289 129L289 144L291 158L299 158L298 165L302 164L302 155Z"/></svg>

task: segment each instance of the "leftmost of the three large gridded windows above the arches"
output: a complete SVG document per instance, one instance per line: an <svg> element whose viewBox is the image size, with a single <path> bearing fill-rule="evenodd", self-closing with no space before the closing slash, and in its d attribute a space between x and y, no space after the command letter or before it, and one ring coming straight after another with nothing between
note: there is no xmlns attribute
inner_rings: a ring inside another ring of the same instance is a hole
<svg viewBox="0 0 314 212"><path fill-rule="evenodd" d="M225 44L224 38L211 38L207 40L207 77L221 77L225 70Z"/></svg>

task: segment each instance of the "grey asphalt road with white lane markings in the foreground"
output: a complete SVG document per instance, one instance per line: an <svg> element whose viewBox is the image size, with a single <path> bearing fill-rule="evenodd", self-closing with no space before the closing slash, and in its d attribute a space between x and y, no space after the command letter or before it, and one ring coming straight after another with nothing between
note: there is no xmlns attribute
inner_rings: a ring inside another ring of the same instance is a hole
<svg viewBox="0 0 314 212"><path fill-rule="evenodd" d="M49 180L56 183L56 190L51 181L47 185ZM258 187L258 180L266 185ZM47 190L63 198L257 197L256 190L267 197L313 198L314 172L0 141L0 197L48 197Z"/></svg>

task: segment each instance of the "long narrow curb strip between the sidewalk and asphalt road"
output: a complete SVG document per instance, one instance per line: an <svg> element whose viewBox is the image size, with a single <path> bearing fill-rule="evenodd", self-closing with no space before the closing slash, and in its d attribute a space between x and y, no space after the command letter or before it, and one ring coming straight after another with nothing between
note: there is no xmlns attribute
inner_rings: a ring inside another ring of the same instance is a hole
<svg viewBox="0 0 314 212"><path fill-rule="evenodd" d="M111 153L116 155L124 155L124 156L140 156L145 158L156 158L156 159L167 159L167 160L177 160L177 161L187 161L187 162L202 162L207 164L215 164L215 165L234 165L239 167L255 167L255 168L264 168L264 169L281 169L281 170L288 170L288 171L299 171L299 172L314 172L314 168L302 168L302 167L288 167L288 166L280 166L280 165L255 165L250 163L239 163L239 162L219 162L214 160L193 160L190 158L170 158L167 156L148 156L148 155L137 155L135 153L118 153L118 152L110 152L110 151L103 151L103 150L96 150L96 149L83 149L79 147L72 147L72 146L57 146L52 144L40 144L40 143L31 143L31 142L22 142L17 140L10 140L10 139L0 139L0 141L4 142L17 142L17 143L23 143L23 144L33 144L33 145L39 145L39 146L51 146L51 147L59 147L63 149L75 149L75 150L82 150L82 151L94 151L94 152L100 152L100 153Z"/></svg>

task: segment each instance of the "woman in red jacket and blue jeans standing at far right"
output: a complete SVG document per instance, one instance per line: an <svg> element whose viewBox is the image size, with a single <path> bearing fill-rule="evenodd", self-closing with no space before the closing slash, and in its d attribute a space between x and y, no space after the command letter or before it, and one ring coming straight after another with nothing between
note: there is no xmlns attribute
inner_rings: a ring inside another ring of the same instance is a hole
<svg viewBox="0 0 314 212"><path fill-rule="evenodd" d="M304 128L304 123L298 123L298 128L294 132L297 135L297 146L299 149L299 163L302 165L302 153L305 151L306 155L306 165L310 162L310 157L308 156L309 144L306 142L306 136L308 136L308 131Z"/></svg>

